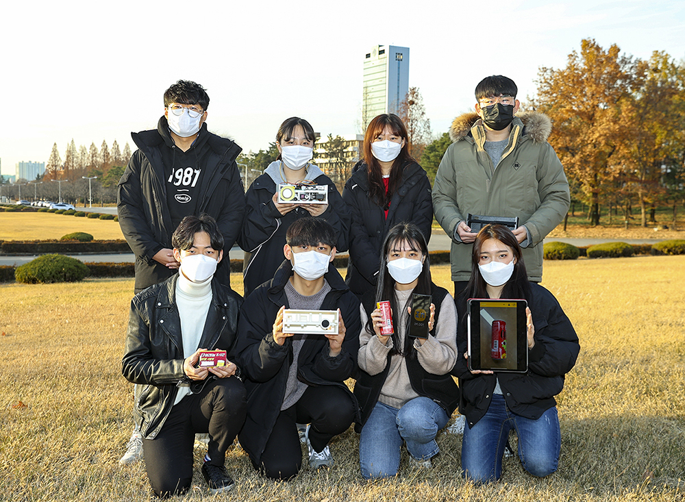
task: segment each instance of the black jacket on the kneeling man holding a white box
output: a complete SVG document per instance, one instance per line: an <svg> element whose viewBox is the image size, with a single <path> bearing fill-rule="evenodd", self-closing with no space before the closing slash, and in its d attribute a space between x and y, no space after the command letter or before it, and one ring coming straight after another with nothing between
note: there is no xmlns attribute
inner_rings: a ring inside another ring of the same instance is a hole
<svg viewBox="0 0 685 502"><path fill-rule="evenodd" d="M291 275L292 266L285 260L273 279L254 290L240 310L236 353L247 389L247 418L238 438L256 462L262 457L280 413L292 363L292 339L286 339L281 346L272 334L279 308L283 305L288 308L284 287ZM332 290L323 299L321 310L340 309L345 323L343 349L337 357L330 357L325 336L308 336L299 353L297 378L310 386L338 386L347 390L354 400L345 380L357 368L361 331L359 300L347 289L332 264L324 277Z"/></svg>

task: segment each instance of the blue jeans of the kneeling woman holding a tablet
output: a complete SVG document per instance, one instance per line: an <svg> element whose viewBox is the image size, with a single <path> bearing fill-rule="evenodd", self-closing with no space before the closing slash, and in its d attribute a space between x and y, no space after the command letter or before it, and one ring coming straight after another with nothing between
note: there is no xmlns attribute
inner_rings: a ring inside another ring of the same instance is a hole
<svg viewBox="0 0 685 502"><path fill-rule="evenodd" d="M468 423L464 427L462 475L477 483L499 479L504 447L512 429L519 436L519 459L525 470L537 477L557 470L561 431L556 406L531 420L514 414L501 394L493 394L483 418L473 427Z"/></svg>

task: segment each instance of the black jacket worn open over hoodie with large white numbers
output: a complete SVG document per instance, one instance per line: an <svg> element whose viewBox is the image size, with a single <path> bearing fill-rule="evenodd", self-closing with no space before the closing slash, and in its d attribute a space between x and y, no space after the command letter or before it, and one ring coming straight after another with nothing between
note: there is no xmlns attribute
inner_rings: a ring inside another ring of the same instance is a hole
<svg viewBox="0 0 685 502"><path fill-rule="evenodd" d="M216 220L228 253L240 234L245 216L245 189L236 165L241 149L232 140L210 133L206 123L199 134L206 136L206 140L197 140L198 145L208 151L199 155L203 174L195 215L207 213ZM164 165L162 151L177 147L163 116L157 129L131 136L138 150L119 180L116 209L121 231L136 255L136 291L140 291L176 272L152 258L161 249L172 247L171 234L175 227L166 204L166 177L171 166ZM221 284L230 286L229 273L230 260L223 260L216 270Z"/></svg>

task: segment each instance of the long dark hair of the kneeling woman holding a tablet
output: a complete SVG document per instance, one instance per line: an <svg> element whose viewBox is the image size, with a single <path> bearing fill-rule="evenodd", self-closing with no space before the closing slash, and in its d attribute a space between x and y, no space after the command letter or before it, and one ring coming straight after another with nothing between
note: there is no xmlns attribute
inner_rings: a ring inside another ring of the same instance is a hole
<svg viewBox="0 0 685 502"><path fill-rule="evenodd" d="M466 298L487 298L487 284L480 274L478 262L480 261L480 251L486 240L496 239L509 247L514 253L514 272L502 288L501 298L523 298L530 300L530 282L523 263L523 253L519 241L512 231L504 225L485 225L473 242L473 253L471 253L471 279L466 284L464 295Z"/></svg>

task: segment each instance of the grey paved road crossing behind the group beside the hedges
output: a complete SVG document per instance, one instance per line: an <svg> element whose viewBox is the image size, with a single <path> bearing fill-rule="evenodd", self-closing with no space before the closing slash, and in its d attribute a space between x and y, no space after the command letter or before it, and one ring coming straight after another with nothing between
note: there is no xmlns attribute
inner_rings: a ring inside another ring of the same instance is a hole
<svg viewBox="0 0 685 502"><path fill-rule="evenodd" d="M116 214L116 208L99 208L100 210L111 209L114 210ZM95 208L93 208L95 211ZM654 244L655 242L660 242L663 239L627 239L622 240L622 242L627 242L628 244ZM601 242L616 242L616 239L566 239L566 238L548 238L545 242L560 241L568 242L574 246L590 246L592 244L600 244ZM430 251L449 251L449 244L451 240L442 231L435 231L431 236L428 244L428 249ZM347 254L347 253L341 253ZM38 255L33 256L0 256L0 265L21 265L28 263ZM114 263L132 263L135 261L133 253L123 253L123 254L112 254L112 255L71 255L77 260L82 262L114 262ZM242 260L244 253L242 249L234 246L230 252L231 260Z"/></svg>

